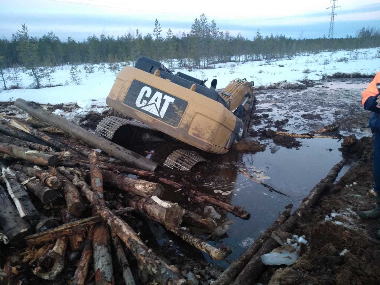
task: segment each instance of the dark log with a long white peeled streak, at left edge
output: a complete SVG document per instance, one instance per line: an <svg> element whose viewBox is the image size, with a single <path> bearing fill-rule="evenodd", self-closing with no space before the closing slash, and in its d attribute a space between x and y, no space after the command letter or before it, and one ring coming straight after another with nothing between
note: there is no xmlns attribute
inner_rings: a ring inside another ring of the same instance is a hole
<svg viewBox="0 0 380 285"><path fill-rule="evenodd" d="M17 181L16 174L11 169L5 168L2 163L0 166L9 196L13 199L20 217L27 220L38 220L40 214L30 201L24 186Z"/></svg>

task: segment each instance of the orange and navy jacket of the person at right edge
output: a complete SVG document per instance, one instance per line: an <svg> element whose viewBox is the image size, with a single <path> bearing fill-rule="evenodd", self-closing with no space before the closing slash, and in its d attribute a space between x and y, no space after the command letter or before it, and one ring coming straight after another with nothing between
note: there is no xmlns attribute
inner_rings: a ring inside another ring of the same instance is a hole
<svg viewBox="0 0 380 285"><path fill-rule="evenodd" d="M372 131L380 131L380 109L376 107L377 96L380 95L380 72L378 72L362 93L361 103L364 109L374 112L369 119L369 127Z"/></svg>

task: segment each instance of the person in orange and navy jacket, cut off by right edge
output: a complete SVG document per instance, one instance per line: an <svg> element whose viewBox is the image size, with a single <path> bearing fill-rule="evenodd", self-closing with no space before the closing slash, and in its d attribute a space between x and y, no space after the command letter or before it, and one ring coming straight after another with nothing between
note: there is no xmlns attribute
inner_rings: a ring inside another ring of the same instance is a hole
<svg viewBox="0 0 380 285"><path fill-rule="evenodd" d="M369 119L369 127L374 133L374 156L373 156L373 172L374 172L374 191L376 192L377 206L369 211L359 212L361 218L373 219L380 218L380 72L378 72L374 80L368 85L367 89L362 93L361 101L364 109L372 111L373 114ZM380 230L377 233L380 234Z"/></svg>

